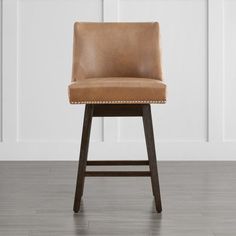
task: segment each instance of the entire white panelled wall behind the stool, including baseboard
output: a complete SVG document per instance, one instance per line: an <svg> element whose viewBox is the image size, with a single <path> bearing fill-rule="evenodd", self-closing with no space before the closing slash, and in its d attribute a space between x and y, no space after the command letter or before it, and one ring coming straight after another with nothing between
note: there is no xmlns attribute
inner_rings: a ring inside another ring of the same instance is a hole
<svg viewBox="0 0 236 236"><path fill-rule="evenodd" d="M70 105L75 21L158 21L168 103L153 105L160 160L236 159L235 0L2 0L0 160L77 160ZM95 118L91 159L144 159L140 118Z"/></svg>

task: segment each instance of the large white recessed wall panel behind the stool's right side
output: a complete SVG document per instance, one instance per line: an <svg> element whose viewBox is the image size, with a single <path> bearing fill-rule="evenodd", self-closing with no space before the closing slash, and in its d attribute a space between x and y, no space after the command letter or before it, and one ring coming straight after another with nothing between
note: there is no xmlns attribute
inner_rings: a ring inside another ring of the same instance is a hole
<svg viewBox="0 0 236 236"><path fill-rule="evenodd" d="M206 141L207 1L121 0L119 20L160 23L168 102L153 106L159 139ZM132 124L132 120L121 121L122 137L129 137ZM141 132L138 137L143 139Z"/></svg>

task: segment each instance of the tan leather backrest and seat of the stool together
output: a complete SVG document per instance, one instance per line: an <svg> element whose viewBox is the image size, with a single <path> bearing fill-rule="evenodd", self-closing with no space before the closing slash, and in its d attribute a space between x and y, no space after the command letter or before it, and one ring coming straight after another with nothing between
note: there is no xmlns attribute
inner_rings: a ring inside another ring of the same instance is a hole
<svg viewBox="0 0 236 236"><path fill-rule="evenodd" d="M71 103L164 103L158 23L75 23Z"/></svg>

